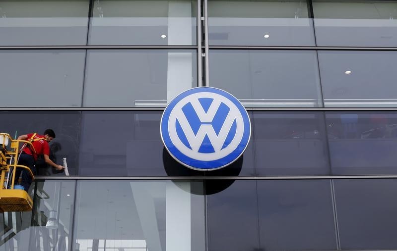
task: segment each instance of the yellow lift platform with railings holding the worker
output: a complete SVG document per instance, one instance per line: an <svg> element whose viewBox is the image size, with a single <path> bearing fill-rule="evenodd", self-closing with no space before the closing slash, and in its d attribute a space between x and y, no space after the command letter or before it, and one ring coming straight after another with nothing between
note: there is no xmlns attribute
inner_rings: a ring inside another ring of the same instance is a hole
<svg viewBox="0 0 397 251"><path fill-rule="evenodd" d="M7 150L9 143L10 150ZM34 180L34 175L29 167L17 164L19 143L29 144L32 146L30 141L12 140L9 134L0 133L0 212L32 210L33 201L28 193L26 193L25 190L14 188L16 168L24 168L28 170L32 176L32 180ZM33 146L30 149L34 150ZM6 173L8 173L8 182L7 177L5 177ZM5 183L9 183L8 186Z"/></svg>

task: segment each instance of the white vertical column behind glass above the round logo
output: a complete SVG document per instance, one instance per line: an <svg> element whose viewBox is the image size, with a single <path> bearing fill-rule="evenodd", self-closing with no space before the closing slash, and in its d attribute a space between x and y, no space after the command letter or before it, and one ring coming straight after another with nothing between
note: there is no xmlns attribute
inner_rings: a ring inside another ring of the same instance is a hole
<svg viewBox="0 0 397 251"><path fill-rule="evenodd" d="M168 45L192 44L192 3L168 3ZM168 52L167 103L192 87L192 52Z"/></svg>

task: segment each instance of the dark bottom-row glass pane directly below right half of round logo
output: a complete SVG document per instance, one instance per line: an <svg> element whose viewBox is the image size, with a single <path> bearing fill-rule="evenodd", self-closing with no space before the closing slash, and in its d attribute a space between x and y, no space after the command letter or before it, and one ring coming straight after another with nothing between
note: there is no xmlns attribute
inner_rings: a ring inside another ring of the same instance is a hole
<svg viewBox="0 0 397 251"><path fill-rule="evenodd" d="M259 250L256 181L236 180L208 195L207 228L208 251Z"/></svg>

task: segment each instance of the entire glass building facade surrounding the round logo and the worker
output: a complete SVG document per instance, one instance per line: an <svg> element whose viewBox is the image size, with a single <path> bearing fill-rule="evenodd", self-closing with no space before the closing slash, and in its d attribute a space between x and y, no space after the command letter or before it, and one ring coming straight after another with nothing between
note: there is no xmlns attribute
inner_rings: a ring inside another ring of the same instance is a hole
<svg viewBox="0 0 397 251"><path fill-rule="evenodd" d="M41 170L34 210L0 217L0 251L397 250L396 15L395 0L0 1L0 131L53 128L72 175ZM159 132L167 101L203 85L253 125L243 158L205 175Z"/></svg>

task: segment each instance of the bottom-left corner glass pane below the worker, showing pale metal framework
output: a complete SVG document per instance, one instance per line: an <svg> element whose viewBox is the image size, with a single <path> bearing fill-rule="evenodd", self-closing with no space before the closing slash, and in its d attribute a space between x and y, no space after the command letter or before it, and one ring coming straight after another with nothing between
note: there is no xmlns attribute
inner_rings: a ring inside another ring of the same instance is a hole
<svg viewBox="0 0 397 251"><path fill-rule="evenodd" d="M33 184L32 211L0 214L0 250L71 250L75 181Z"/></svg>

